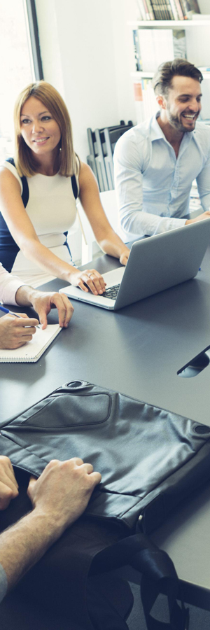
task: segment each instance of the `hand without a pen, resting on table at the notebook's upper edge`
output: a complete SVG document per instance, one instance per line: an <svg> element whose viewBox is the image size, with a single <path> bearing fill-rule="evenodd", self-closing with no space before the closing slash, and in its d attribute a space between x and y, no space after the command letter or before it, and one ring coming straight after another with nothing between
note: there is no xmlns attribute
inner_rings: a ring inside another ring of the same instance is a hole
<svg viewBox="0 0 210 630"><path fill-rule="evenodd" d="M62 328L67 328L73 315L73 306L64 293L34 291L34 293L31 294L31 304L34 311L38 313L42 328L46 328L48 325L47 315L50 313L51 309L57 309L59 326Z"/></svg>

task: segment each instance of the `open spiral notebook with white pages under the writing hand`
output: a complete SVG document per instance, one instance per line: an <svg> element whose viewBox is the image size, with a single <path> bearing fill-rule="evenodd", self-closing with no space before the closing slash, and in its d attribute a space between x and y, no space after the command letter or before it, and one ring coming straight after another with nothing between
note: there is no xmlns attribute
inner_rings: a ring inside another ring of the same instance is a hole
<svg viewBox="0 0 210 630"><path fill-rule="evenodd" d="M36 363L60 330L59 324L48 324L45 330L36 328L33 339L25 346L15 350L0 350L0 363Z"/></svg>

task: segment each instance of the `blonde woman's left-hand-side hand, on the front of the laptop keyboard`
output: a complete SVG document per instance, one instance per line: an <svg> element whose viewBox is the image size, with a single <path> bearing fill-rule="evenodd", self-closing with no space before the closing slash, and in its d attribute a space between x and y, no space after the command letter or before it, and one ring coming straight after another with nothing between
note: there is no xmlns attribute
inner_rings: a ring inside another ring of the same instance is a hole
<svg viewBox="0 0 210 630"><path fill-rule="evenodd" d="M94 295L102 295L106 290L104 278L95 269L84 269L84 271L77 269L69 274L69 282L73 286L79 286L86 293L90 289Z"/></svg>

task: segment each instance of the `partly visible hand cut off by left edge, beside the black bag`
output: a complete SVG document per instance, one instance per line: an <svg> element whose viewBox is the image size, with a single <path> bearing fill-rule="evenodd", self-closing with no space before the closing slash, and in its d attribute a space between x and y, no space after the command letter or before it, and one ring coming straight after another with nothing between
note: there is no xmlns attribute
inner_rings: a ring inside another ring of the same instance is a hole
<svg viewBox="0 0 210 630"><path fill-rule="evenodd" d="M10 500L18 496L18 483L8 457L0 455L0 510L8 507Z"/></svg>

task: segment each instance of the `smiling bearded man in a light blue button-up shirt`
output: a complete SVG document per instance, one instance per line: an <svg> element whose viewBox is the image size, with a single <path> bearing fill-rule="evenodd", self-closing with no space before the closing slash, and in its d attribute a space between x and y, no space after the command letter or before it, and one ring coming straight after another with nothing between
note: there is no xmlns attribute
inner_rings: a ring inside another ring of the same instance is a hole
<svg viewBox="0 0 210 630"><path fill-rule="evenodd" d="M153 77L160 111L116 144L116 193L126 234L160 234L210 216L210 128L196 123L202 79L186 59L161 64ZM194 179L202 214L190 219Z"/></svg>

